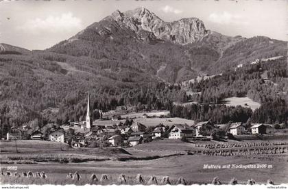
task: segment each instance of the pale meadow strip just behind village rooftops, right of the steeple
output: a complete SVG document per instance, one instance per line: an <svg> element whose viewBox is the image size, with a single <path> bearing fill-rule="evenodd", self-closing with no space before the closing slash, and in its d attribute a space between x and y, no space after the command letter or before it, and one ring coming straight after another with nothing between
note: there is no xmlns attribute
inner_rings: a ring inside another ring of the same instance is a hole
<svg viewBox="0 0 288 189"><path fill-rule="evenodd" d="M139 122L144 124L147 127L150 126L157 126L160 123L163 123L165 126L172 126L173 124L185 124L187 123L187 125L192 126L194 124L193 120L189 120L189 119L182 119L182 118L178 118L178 117L173 117L173 118L159 118L159 117L153 117L153 118L136 118L133 119L134 122ZM117 124L120 121L124 122L125 119L123 120L95 120L93 121L94 125L113 125L113 124Z"/></svg>

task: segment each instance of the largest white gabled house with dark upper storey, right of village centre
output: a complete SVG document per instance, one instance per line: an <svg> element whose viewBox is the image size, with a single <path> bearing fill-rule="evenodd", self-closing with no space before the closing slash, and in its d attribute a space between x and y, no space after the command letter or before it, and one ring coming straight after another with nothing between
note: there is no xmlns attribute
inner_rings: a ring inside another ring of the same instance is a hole
<svg viewBox="0 0 288 189"><path fill-rule="evenodd" d="M192 137L193 128L184 124L175 124L168 130L169 139L182 139L183 137Z"/></svg>

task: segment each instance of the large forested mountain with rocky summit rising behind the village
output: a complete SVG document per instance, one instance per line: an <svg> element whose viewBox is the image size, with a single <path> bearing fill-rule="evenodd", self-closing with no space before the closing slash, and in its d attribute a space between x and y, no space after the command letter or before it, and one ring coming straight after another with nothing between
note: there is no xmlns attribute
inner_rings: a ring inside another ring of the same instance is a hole
<svg viewBox="0 0 288 189"><path fill-rule="evenodd" d="M278 55L287 57L287 42L222 35L198 18L165 22L145 8L117 10L47 50L1 44L1 120L5 126L45 120L51 108L59 110L53 121L77 120L85 113L86 92L93 109L169 109L187 100L170 84ZM274 75L282 72L277 69Z"/></svg>

